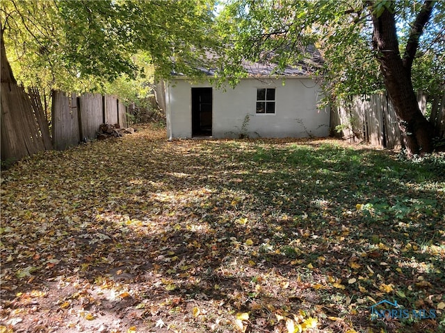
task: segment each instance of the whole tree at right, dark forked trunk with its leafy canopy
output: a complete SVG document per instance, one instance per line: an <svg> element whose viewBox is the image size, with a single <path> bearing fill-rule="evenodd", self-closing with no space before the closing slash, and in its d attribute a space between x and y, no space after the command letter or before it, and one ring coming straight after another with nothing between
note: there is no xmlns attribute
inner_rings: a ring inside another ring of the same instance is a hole
<svg viewBox="0 0 445 333"><path fill-rule="evenodd" d="M410 153L432 150L432 128L414 89L439 94L445 85L445 4L436 1L229 0L218 22L228 76L243 60L285 65L307 58L314 44L324 65L318 71L328 96L372 94L386 89L401 119ZM226 61L230 63L230 61Z"/></svg>

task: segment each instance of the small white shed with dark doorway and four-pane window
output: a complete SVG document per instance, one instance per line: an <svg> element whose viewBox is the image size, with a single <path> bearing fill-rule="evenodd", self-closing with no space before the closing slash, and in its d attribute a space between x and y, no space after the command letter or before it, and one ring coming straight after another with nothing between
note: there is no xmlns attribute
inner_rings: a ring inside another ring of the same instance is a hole
<svg viewBox="0 0 445 333"><path fill-rule="evenodd" d="M165 85L170 139L223 137L327 137L330 110L309 66L288 67L279 76L272 65L245 65L248 78L232 88L176 76ZM213 72L208 71L209 76Z"/></svg>

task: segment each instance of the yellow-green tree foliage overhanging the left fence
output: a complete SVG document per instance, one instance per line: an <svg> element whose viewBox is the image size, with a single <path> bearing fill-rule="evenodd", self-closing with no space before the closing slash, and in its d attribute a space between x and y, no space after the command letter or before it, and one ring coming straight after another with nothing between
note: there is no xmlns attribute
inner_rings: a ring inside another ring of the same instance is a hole
<svg viewBox="0 0 445 333"><path fill-rule="evenodd" d="M159 76L198 75L195 63L213 44L212 5L207 0L7 0L1 3L1 31L21 83L98 89L122 74L143 74L147 65Z"/></svg>

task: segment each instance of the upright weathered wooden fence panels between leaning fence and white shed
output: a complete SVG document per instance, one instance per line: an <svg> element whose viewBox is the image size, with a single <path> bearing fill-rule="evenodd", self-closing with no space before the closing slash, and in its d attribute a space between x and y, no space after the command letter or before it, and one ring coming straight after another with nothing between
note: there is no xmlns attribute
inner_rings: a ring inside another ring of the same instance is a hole
<svg viewBox="0 0 445 333"><path fill-rule="evenodd" d="M67 94L54 91L52 103L54 148L63 150L82 140L95 139L102 123L127 127L127 108L115 96Z"/></svg>

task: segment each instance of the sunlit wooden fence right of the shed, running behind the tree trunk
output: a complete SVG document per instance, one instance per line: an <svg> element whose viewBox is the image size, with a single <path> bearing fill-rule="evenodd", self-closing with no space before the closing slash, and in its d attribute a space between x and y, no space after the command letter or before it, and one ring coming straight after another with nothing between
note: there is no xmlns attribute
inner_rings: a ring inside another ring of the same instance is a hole
<svg viewBox="0 0 445 333"><path fill-rule="evenodd" d="M426 114L426 96L418 94L419 108ZM430 101L429 121L439 137L445 135L445 94ZM333 105L331 128L341 129L341 137L350 142L369 142L374 146L401 148L398 117L385 94L351 96L348 101Z"/></svg>

